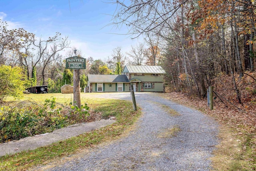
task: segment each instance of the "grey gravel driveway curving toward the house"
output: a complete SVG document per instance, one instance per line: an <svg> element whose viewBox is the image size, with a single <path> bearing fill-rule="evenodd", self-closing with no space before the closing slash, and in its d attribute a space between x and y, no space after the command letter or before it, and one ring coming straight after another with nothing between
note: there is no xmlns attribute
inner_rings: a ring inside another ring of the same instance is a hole
<svg viewBox="0 0 256 171"><path fill-rule="evenodd" d="M90 94L89 94L90 96ZM95 93L93 97L131 100L130 93ZM108 145L90 149L51 171L207 171L211 169L214 146L218 144L218 123L188 107L158 96L136 93L143 115L129 135ZM178 111L171 116L166 106ZM167 131L180 128L176 136ZM162 136L164 135L164 136ZM36 170L40 170L37 168Z"/></svg>

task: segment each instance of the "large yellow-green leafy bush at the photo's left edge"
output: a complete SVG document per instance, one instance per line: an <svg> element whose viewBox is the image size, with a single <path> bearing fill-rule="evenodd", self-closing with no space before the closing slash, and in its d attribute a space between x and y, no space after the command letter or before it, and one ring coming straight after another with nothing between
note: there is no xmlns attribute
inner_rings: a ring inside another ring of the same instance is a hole
<svg viewBox="0 0 256 171"><path fill-rule="evenodd" d="M28 85L28 80L22 68L0 66L0 103L7 96L22 97L25 85Z"/></svg>

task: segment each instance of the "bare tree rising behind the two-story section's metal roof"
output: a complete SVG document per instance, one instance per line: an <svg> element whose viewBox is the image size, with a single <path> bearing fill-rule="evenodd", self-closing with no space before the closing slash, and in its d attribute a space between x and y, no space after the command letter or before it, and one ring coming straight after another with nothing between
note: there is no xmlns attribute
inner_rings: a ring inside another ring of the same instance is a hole
<svg viewBox="0 0 256 171"><path fill-rule="evenodd" d="M130 58L128 58L128 62L131 65L143 65L145 60L145 48L144 44L140 43L138 46L132 46L130 52L126 53Z"/></svg>

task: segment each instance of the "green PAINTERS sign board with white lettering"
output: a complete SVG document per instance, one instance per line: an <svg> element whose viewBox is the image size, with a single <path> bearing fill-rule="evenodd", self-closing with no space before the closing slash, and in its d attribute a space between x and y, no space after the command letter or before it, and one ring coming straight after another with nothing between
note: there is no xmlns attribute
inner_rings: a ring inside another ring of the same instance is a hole
<svg viewBox="0 0 256 171"><path fill-rule="evenodd" d="M78 56L66 58L66 69L86 69L86 59Z"/></svg>

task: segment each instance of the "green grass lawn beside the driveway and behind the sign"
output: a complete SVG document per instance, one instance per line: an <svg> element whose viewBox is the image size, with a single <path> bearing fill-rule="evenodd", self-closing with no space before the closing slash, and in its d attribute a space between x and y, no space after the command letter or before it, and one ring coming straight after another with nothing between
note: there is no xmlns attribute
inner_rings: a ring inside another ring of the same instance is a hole
<svg viewBox="0 0 256 171"><path fill-rule="evenodd" d="M116 99L92 98L93 93L81 93L81 103L88 103L94 111L102 112L104 117L109 115L116 117L116 122L101 129L84 133L77 137L72 137L66 141L53 143L46 147L40 147L31 151L24 151L14 155L0 157L0 170L27 170L30 167L58 160L59 157L77 153L78 150L86 149L102 142L111 141L124 134L141 114L133 110L132 102ZM73 95L61 93L47 94L26 94L19 100L30 100L37 103L44 103L45 99L56 98L57 103L70 103ZM13 100L8 97L7 101ZM120 108L120 106L122 106Z"/></svg>

